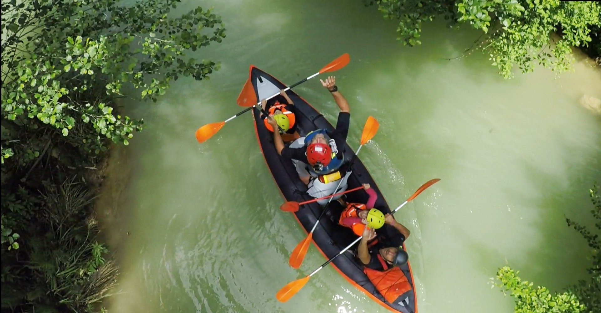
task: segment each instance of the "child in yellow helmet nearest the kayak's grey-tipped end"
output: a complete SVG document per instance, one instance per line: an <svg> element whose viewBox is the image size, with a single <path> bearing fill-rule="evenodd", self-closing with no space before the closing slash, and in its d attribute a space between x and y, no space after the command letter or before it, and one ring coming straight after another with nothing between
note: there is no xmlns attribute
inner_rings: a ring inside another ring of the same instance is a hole
<svg viewBox="0 0 601 313"><path fill-rule="evenodd" d="M287 104L280 103L278 99L274 99L270 101L268 107L267 101L263 99L261 100L261 108L263 108L263 111L267 111L269 116L273 117L278 124L279 127L277 128L282 136L282 141L290 142L300 137L299 133L296 132L296 118L294 116L296 110L294 109L294 103L283 89L279 90L279 94L286 100ZM260 113L260 117L263 119L267 130L273 132L273 126L266 119L263 112Z"/></svg>

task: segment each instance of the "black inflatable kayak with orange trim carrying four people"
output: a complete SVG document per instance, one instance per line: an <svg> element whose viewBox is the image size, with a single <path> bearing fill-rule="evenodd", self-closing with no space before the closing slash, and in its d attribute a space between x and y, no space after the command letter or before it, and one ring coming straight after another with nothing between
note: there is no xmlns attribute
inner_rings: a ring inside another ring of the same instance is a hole
<svg viewBox="0 0 601 313"><path fill-rule="evenodd" d="M252 82L255 96L259 100L277 94L279 90L287 87L275 79L275 77L252 65L249 71L249 80ZM325 117L292 90L288 90L287 94L296 107L295 115L297 132L299 135L305 136L308 132L316 129L334 129ZM278 95L275 99L278 99L278 97L281 96ZM285 103L284 99L278 100ZM290 160L285 160L279 156L275 150L275 146L273 145L273 134L264 126L258 110L253 110L253 117L255 134L257 135L259 147L261 148L261 152L267 163L267 168L271 171L273 180L275 180L279 192L284 197L285 201L301 202L313 199L307 194L307 186L299 179L293 163ZM351 125L351 127L356 126ZM346 153L344 154L344 157L349 161L355 154L349 145L345 144L345 148ZM370 173L367 171L361 160L355 158L350 169L351 172L347 180L348 187L353 188L361 186L362 183L369 183L371 188L377 193L377 201L374 207L385 214L390 213L390 208L388 207L388 204L386 204L384 196L380 193L376 183L371 178ZM335 183L338 183L338 181ZM346 197L347 202L365 203L367 202L368 195L362 190L358 190L356 192L347 193ZM308 233L311 231L311 228L313 228L313 225L316 223L317 218L322 211L322 205L313 202L311 204L302 205L301 208L293 214L296 217L297 222L299 222L302 228L305 229L305 232ZM357 239L357 236L353 234L353 231L350 228L338 225L338 218L342 211L343 207L338 201L330 202L328 211L326 211L326 214L324 214L316 230L313 232L314 245L316 245L317 249L328 260L339 254L340 251ZM382 228L378 229L377 232L379 236L384 237L392 237L395 234L398 234L397 230L389 225L384 225ZM399 246L399 243L396 243L396 245ZM413 276L409 263L402 266L401 270L408 279L409 284L412 287L412 292L407 293L408 296L404 298L403 302L390 303L385 300L382 294L376 289L376 286L367 278L364 273L364 266L354 255L355 251L356 247L349 249L349 251L340 255L340 257L335 258L331 265L334 266L338 273L347 279L347 281L358 288L358 290L361 290L385 308L393 312L416 313L415 288L413 288Z"/></svg>

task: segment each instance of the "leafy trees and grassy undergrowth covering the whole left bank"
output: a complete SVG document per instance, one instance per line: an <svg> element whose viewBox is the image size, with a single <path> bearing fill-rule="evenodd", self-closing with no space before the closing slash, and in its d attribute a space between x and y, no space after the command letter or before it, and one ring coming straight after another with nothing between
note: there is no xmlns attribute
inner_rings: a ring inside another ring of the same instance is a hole
<svg viewBox="0 0 601 313"><path fill-rule="evenodd" d="M156 101L219 65L186 57L225 29L180 0L2 0L2 312L95 312L117 267L91 201L110 142L142 120L117 98ZM18 249L17 249L18 248Z"/></svg>

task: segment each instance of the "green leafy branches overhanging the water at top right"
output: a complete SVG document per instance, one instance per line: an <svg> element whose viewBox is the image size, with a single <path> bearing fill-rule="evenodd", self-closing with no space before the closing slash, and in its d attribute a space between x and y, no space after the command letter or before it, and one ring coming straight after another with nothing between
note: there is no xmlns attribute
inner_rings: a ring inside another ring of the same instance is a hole
<svg viewBox="0 0 601 313"><path fill-rule="evenodd" d="M587 46L590 28L601 26L601 4L596 1L560 0L377 0L386 18L400 22L403 43L421 43L421 22L444 16L454 23L469 23L483 31L480 46L505 78L517 66L523 73L534 64L566 71L573 60L570 46ZM550 45L554 32L561 37Z"/></svg>

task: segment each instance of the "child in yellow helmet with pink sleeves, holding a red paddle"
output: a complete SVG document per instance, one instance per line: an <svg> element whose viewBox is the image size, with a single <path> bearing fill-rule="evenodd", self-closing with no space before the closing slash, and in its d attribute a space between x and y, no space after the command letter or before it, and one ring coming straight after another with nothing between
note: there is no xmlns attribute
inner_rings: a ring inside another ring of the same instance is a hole
<svg viewBox="0 0 601 313"><path fill-rule="evenodd" d="M365 230L365 225L373 229L379 229L385 223L385 216L377 208L373 208L377 200L377 193L371 189L370 184L363 184L363 189L370 198L367 199L366 204L361 203L347 203L342 198L338 199L338 202L346 207L340 214L338 223L342 226L346 226L353 229L353 232L357 236L361 236Z"/></svg>

